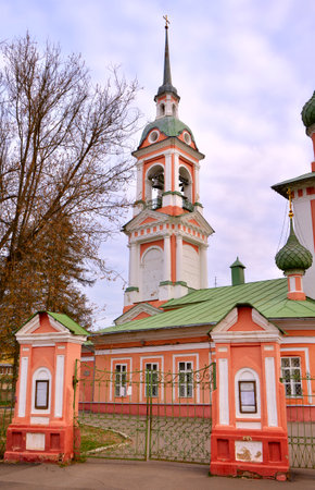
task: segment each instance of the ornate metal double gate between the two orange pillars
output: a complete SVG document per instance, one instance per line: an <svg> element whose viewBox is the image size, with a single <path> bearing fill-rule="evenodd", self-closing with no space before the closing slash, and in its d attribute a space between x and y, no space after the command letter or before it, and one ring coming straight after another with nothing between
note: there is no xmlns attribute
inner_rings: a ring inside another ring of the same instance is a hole
<svg viewBox="0 0 315 490"><path fill-rule="evenodd" d="M176 373L154 364L127 372L124 365L104 371L78 363L81 450L94 457L209 464L214 388L214 363L197 371L186 365Z"/></svg>

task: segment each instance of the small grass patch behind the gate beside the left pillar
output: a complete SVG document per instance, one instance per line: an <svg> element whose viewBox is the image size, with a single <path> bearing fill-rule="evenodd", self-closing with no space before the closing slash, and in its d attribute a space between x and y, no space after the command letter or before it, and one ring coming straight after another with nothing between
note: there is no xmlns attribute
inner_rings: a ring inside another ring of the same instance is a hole
<svg viewBox="0 0 315 490"><path fill-rule="evenodd" d="M101 429L100 427L91 427L80 425L80 452L86 453L98 448L121 444L126 439L111 429Z"/></svg>

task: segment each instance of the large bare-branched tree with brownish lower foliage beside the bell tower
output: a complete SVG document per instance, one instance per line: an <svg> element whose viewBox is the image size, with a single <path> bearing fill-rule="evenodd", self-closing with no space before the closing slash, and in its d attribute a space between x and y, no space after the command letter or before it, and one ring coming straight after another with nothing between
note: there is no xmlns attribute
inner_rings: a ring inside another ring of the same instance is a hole
<svg viewBox="0 0 315 490"><path fill-rule="evenodd" d="M79 56L63 59L51 44L41 51L28 34L3 44L2 56L0 321L10 333L23 304L24 318L40 305L70 310L71 292L84 317L75 283L90 281L87 260L104 267L99 243L127 205L138 87L115 70L92 86Z"/></svg>

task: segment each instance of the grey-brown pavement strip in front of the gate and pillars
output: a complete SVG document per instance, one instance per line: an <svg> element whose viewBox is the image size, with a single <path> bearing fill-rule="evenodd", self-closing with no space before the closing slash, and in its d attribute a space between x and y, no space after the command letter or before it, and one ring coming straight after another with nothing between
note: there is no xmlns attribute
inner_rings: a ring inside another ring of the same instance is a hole
<svg viewBox="0 0 315 490"><path fill-rule="evenodd" d="M293 470L292 481L209 477L209 468L163 462L88 460L65 467L0 464L0 489L8 490L314 490L315 470Z"/></svg>

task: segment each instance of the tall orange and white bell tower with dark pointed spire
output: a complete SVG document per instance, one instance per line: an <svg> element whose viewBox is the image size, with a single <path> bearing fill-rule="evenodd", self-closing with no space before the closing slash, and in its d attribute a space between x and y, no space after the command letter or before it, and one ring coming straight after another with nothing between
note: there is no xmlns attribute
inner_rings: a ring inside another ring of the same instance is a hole
<svg viewBox="0 0 315 490"><path fill-rule="evenodd" d="M163 84L154 97L155 120L141 135L137 159L134 217L123 228L129 243L125 310L137 303L160 306L191 289L207 287L207 237L202 216L200 160L191 130L178 119L180 97L173 86L165 25Z"/></svg>

